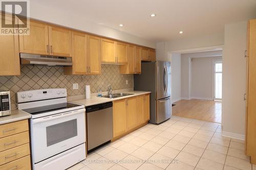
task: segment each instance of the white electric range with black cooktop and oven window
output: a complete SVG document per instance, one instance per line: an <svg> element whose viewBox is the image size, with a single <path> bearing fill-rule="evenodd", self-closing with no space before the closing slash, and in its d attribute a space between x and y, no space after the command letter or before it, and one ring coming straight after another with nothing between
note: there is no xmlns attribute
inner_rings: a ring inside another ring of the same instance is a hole
<svg viewBox="0 0 256 170"><path fill-rule="evenodd" d="M86 158L86 109L67 102L66 89L20 91L17 103L32 116L33 169L62 170Z"/></svg>

